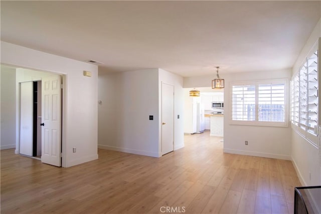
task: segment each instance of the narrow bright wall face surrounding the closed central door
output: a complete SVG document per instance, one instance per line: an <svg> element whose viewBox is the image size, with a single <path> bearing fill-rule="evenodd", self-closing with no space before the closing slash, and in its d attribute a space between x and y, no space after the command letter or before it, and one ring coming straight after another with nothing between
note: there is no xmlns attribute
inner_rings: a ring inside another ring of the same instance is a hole
<svg viewBox="0 0 321 214"><path fill-rule="evenodd" d="M162 136L162 83L174 85L174 150L184 147L184 91L183 77L171 72L159 69L158 97L159 97L159 152L161 153ZM178 119L178 115L180 118Z"/></svg>

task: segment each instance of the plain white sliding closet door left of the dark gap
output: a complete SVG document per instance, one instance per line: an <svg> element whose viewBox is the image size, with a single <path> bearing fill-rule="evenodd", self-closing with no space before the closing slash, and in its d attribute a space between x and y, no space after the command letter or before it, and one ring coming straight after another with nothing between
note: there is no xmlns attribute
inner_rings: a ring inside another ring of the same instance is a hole
<svg viewBox="0 0 321 214"><path fill-rule="evenodd" d="M19 153L33 155L33 82L20 83Z"/></svg>

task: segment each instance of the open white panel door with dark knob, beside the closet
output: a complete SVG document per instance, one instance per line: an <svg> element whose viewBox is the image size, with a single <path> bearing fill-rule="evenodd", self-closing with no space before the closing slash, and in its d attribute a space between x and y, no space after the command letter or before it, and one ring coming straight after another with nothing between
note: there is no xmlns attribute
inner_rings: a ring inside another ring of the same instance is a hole
<svg viewBox="0 0 321 214"><path fill-rule="evenodd" d="M41 161L61 166L61 76L42 79Z"/></svg>

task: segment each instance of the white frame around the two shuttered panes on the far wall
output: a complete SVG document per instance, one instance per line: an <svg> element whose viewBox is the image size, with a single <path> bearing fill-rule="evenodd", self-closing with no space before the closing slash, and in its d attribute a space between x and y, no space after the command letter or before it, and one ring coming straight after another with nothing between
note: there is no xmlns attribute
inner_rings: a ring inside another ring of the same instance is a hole
<svg viewBox="0 0 321 214"><path fill-rule="evenodd" d="M284 84L284 122L274 121L259 121L259 85L266 84ZM233 120L233 86L255 86L255 120ZM253 80L253 81L232 81L230 82L230 118L229 124L231 125L248 125L248 126L270 126L270 127L288 127L289 121L289 80L286 78L269 79L269 80Z"/></svg>

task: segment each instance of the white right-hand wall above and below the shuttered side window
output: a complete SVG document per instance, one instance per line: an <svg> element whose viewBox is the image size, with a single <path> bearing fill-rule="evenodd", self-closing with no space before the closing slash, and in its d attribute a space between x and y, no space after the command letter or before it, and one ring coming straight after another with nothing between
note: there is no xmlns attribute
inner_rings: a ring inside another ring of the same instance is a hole
<svg viewBox="0 0 321 214"><path fill-rule="evenodd" d="M311 50L315 42L321 37L321 19L315 26L309 39L306 41L300 55L298 56L292 70L292 74L296 73L302 65L304 58ZM320 41L321 43L321 41ZM319 54L321 51L321 44L319 44ZM319 60L319 62L321 62ZM320 66L319 66L320 68ZM321 69L319 69L321 72ZM320 80L319 80L320 81ZM319 104L320 104L319 96ZM320 112L319 112L320 113ZM319 122L320 123L320 122ZM320 142L319 142L320 144ZM320 146L319 146L320 147ZM312 146L307 140L292 129L292 160L295 168L299 174L303 185L320 185L321 184L321 151L320 148ZM311 175L309 174L311 173Z"/></svg>

